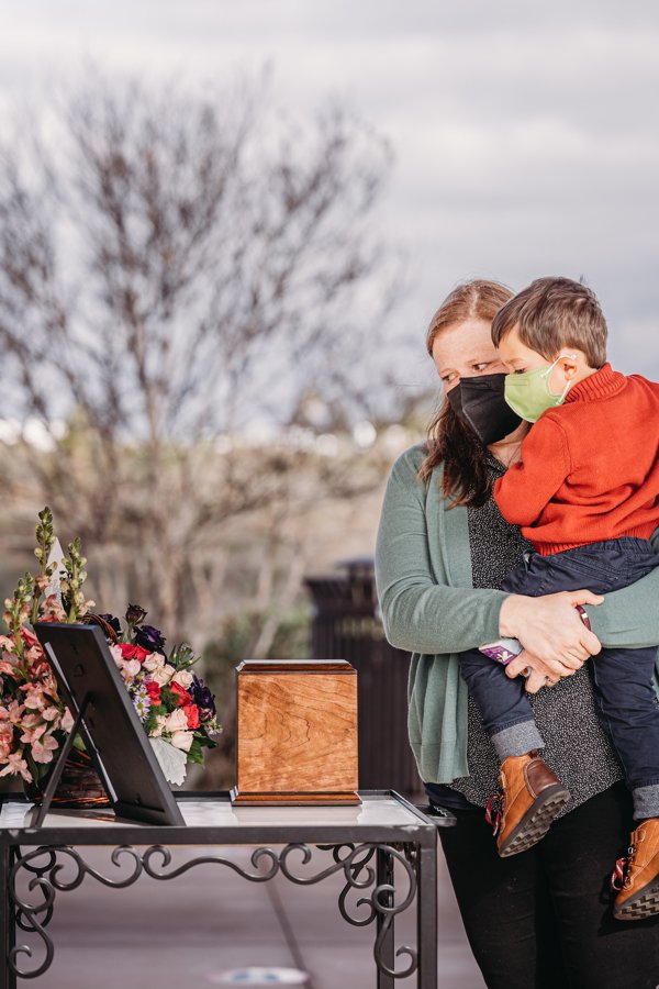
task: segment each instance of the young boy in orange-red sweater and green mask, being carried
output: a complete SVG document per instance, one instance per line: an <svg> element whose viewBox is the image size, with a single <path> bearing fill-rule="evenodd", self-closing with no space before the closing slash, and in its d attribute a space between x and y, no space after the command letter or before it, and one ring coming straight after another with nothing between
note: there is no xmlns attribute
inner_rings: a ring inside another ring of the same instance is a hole
<svg viewBox="0 0 659 989"><path fill-rule="evenodd" d="M522 459L494 487L502 514L535 549L503 589L606 593L639 580L659 565L649 542L659 525L659 385L606 364L597 300L567 278L538 279L511 299L492 338L510 370L506 402L535 423ZM523 680L490 655L463 653L460 669L502 763L493 823L507 856L538 842L570 794L537 753L544 743ZM655 647L617 648L591 659L600 715L640 822L626 875L618 867L621 920L659 913L656 656Z"/></svg>

